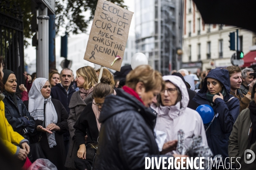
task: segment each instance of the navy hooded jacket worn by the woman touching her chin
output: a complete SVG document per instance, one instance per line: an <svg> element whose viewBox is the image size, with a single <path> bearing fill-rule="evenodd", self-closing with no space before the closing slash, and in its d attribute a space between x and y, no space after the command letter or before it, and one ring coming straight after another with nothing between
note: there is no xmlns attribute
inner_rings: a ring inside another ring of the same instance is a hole
<svg viewBox="0 0 256 170"><path fill-rule="evenodd" d="M221 154L224 158L228 157L228 140L232 131L233 125L239 115L240 103L239 99L233 98L230 94L230 77L229 73L225 69L215 68L212 69L207 77L217 79L220 81L226 89L226 96L224 99L217 98L212 108L215 114L218 113L218 117L215 117L212 125L207 130L207 142L214 155ZM197 95L194 97L194 101L199 105L211 105L207 100L207 77L204 79L204 85ZM230 99L230 101L228 101ZM209 124L205 124L205 128Z"/></svg>

